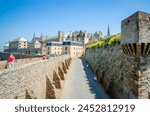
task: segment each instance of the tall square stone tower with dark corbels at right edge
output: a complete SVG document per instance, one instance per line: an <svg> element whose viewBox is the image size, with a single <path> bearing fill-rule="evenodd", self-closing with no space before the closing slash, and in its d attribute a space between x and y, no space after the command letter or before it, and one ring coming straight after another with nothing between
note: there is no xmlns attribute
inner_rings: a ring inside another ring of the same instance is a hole
<svg viewBox="0 0 150 116"><path fill-rule="evenodd" d="M150 14L138 11L121 22L125 79L136 98L150 98Z"/></svg>

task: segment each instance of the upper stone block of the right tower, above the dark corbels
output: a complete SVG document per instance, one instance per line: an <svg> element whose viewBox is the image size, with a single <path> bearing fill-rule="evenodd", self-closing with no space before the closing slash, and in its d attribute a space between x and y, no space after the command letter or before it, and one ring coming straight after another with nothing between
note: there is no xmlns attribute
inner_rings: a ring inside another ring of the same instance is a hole
<svg viewBox="0 0 150 116"><path fill-rule="evenodd" d="M121 23L121 44L149 43L150 14L138 11Z"/></svg>

